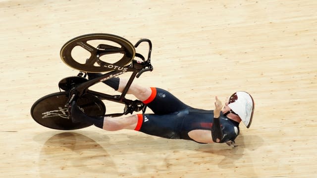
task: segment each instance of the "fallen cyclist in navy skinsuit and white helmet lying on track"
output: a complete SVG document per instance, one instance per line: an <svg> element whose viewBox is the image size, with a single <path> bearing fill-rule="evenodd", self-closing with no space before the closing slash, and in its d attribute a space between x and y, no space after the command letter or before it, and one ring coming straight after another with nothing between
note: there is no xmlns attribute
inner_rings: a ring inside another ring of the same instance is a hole
<svg viewBox="0 0 317 178"><path fill-rule="evenodd" d="M90 79L100 75L102 74L88 73ZM115 77L104 83L122 92L127 80ZM193 140L198 143L227 143L234 146L234 140L239 135L239 123L242 121L249 128L254 112L254 101L247 92L235 92L224 107L215 97L214 110L190 107L168 91L134 83L127 94L133 94L154 114L137 114L124 118L95 118L87 116L85 111L73 102L72 121L91 123L108 131L134 129L163 138Z"/></svg>

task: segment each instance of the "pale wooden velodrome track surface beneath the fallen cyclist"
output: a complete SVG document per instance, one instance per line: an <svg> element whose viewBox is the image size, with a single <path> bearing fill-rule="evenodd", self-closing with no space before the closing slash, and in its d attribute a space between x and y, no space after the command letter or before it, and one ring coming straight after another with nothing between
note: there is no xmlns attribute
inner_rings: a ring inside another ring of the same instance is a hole
<svg viewBox="0 0 317 178"><path fill-rule="evenodd" d="M0 177L316 177L316 9L315 0L0 0ZM251 93L254 120L240 125L238 147L36 123L32 104L78 72L60 48L89 33L150 39L154 71L135 82L193 107Z"/></svg>

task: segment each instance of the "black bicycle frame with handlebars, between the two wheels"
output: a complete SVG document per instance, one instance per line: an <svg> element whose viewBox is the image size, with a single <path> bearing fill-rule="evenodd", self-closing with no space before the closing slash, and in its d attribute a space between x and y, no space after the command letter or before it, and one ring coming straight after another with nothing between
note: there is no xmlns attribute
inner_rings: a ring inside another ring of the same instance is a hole
<svg viewBox="0 0 317 178"><path fill-rule="evenodd" d="M114 70L107 72L99 77L94 78L94 79L88 80L87 82L81 83L78 86L72 88L69 91L69 99L68 99L65 106L67 108L69 108L71 106L71 103L73 101L76 101L80 96L82 96L84 94L91 94L91 95L94 95L94 96L100 98L101 100L108 100L108 101L112 101L112 102L116 102L116 103L125 104L125 109L124 109L123 113L108 114L105 116L119 117L122 115L132 114L134 111L139 112L141 110L144 113L146 110L146 106L141 101L139 101L139 100L132 101L132 100L125 98L125 95L127 94L127 92L129 90L133 80L135 79L135 77L139 78L143 72L153 70L153 66L151 64L151 52L152 52L151 41L148 39L141 39L135 44L134 47L135 48L138 47L139 44L142 42L147 42L149 44L149 52L148 52L148 59L147 60L145 60L145 58L141 54L136 53L135 57L142 59L143 62L138 62L137 60L132 59L131 63L128 66L112 65ZM96 59L96 60L98 60L98 59ZM110 67L110 66L108 66L108 67ZM91 87L97 83L100 83L100 82L105 81L107 79L119 76L119 75L126 73L126 72L132 72L132 74L127 82L127 85L123 89L123 92L121 93L121 95L108 95L105 93L100 93L100 92L88 89L89 87ZM83 72L80 71L78 76L82 76L82 75L83 75ZM70 117L70 116L68 116L68 117Z"/></svg>

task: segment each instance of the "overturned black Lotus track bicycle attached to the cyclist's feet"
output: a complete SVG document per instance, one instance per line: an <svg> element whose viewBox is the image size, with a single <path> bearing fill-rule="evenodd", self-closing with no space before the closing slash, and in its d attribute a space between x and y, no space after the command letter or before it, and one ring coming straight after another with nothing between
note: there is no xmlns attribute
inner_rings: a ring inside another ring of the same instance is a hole
<svg viewBox="0 0 317 178"><path fill-rule="evenodd" d="M136 53L136 48L141 43L148 44L147 59ZM152 43L149 39L141 39L134 46L122 37L104 33L86 34L69 40L62 46L60 58L68 66L79 70L79 73L77 76L61 79L58 83L59 92L38 99L31 107L32 118L43 126L59 130L80 129L92 125L72 122L68 111L73 101L91 117L119 117L140 111L144 113L146 106L141 101L130 100L125 96L135 77L153 70L151 52ZM88 72L106 73L88 79ZM131 76L120 95L109 95L89 89L99 82L126 72L131 72ZM123 112L106 114L103 100L123 104Z"/></svg>

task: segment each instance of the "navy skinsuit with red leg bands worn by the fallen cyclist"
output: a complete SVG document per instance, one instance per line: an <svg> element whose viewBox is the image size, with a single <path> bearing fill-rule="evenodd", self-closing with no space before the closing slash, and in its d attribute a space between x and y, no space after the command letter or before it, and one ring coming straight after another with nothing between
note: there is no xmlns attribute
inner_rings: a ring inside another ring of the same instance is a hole
<svg viewBox="0 0 317 178"><path fill-rule="evenodd" d="M170 139L193 140L188 132L196 129L211 130L212 110L192 108L168 91L152 89L152 99L144 103L154 114L139 115L140 128L137 130L150 135ZM142 122L142 123L141 123ZM239 134L239 123L220 114L223 142L234 141Z"/></svg>

